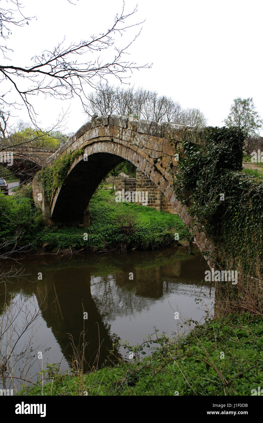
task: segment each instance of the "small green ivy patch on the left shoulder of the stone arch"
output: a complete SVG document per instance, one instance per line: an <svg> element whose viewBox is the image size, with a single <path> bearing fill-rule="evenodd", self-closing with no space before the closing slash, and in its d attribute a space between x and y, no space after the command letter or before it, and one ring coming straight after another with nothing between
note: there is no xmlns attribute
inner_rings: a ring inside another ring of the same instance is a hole
<svg viewBox="0 0 263 423"><path fill-rule="evenodd" d="M57 188L62 187L70 166L81 154L84 154L83 148L74 151L72 154L71 151L69 151L57 158L52 166L46 166L46 168L37 173L38 181L41 181L48 201L51 201L52 194L57 190Z"/></svg>

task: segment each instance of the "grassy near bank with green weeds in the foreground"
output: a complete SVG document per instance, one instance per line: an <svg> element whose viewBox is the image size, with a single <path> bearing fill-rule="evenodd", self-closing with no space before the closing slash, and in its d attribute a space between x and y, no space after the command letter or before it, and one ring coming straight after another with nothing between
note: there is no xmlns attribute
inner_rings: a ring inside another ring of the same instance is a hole
<svg viewBox="0 0 263 423"><path fill-rule="evenodd" d="M179 340L158 335L131 348L133 360L76 376L51 366L43 395L252 395L263 383L263 321L249 313L207 320ZM145 357L145 351L155 347ZM53 370L52 370L53 368ZM22 394L41 395L41 384Z"/></svg>

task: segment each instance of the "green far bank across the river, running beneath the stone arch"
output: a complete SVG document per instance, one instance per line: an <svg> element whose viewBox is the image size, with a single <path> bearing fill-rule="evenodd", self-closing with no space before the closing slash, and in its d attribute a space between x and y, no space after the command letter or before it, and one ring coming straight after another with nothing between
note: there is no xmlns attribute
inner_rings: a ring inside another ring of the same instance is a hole
<svg viewBox="0 0 263 423"><path fill-rule="evenodd" d="M175 232L180 240L187 239L188 231L176 215L135 203L116 203L114 198L111 190L95 193L88 228L44 227L30 187L25 187L0 198L0 238L7 242L6 250L26 245L27 250L51 252L154 248L174 243Z"/></svg>

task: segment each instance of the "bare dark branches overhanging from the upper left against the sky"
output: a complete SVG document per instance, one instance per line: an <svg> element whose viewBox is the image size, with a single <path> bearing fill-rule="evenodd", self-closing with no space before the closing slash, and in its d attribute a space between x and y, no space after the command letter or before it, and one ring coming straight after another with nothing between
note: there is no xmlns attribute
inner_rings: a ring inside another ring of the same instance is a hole
<svg viewBox="0 0 263 423"><path fill-rule="evenodd" d="M8 3L8 0L5 0ZM21 5L16 0L10 0L16 6L16 10L5 10L0 14L0 28L2 26L2 38L10 36L12 25L24 25L30 18L25 18L21 12ZM112 25L98 35L90 36L87 40L65 45L65 40L60 42L54 49L46 50L40 55L33 57L30 66L14 66L8 63L0 65L0 81L2 82L1 109L3 104L11 107L13 96L16 96L16 106L24 106L30 119L36 124L36 112L32 103L32 96L43 94L58 99L70 99L79 97L83 107L87 102L87 87L95 87L98 80L106 81L110 75L115 76L120 82L125 80L135 69L148 68L149 65L138 66L135 62L125 60L128 48L138 37L138 33L123 47L118 47L119 38L127 30L141 25L131 23L130 18L136 13L135 8L126 13L125 5L120 14L117 14ZM15 18L16 13L21 19ZM2 46L5 53L7 47ZM107 50L104 59L102 53ZM26 85L26 87L25 87ZM10 99L12 96L12 101Z"/></svg>

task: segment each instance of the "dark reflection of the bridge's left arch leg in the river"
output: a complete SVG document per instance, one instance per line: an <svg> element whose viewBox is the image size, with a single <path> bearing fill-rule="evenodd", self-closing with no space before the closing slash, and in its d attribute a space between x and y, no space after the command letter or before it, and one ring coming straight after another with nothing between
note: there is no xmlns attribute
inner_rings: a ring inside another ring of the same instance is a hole
<svg viewBox="0 0 263 423"><path fill-rule="evenodd" d="M90 292L90 269L76 272L74 268L60 269L58 272L49 272L48 282L44 286L38 284L35 295L41 304L42 316L48 327L60 344L63 354L71 364L72 348L69 346L72 336L76 347L82 344L81 332L85 331L85 341L88 343L85 359L92 367L102 365L107 359L107 349L112 349L113 341L110 337L110 328L103 323L99 310L92 299ZM46 277L45 277L46 279ZM71 280L72 283L65 281ZM46 308L48 306L48 308ZM88 313L84 320L83 312ZM115 352L116 353L116 352ZM110 356L111 360L114 359Z"/></svg>

